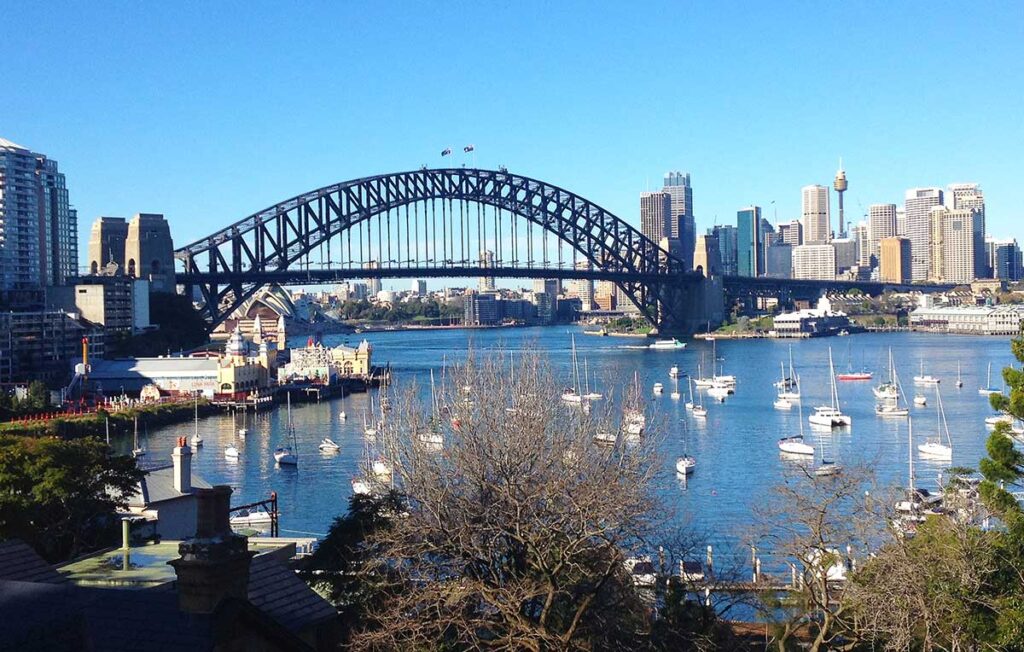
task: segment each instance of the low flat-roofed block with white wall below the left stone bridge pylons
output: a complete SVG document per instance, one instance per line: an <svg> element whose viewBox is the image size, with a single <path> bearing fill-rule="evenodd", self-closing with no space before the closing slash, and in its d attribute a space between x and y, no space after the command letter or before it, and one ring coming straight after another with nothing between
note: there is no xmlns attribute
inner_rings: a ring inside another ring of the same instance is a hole
<svg viewBox="0 0 1024 652"><path fill-rule="evenodd" d="M47 289L47 308L77 312L111 332L132 335L150 328L148 280L121 274L72 280L72 285Z"/></svg>

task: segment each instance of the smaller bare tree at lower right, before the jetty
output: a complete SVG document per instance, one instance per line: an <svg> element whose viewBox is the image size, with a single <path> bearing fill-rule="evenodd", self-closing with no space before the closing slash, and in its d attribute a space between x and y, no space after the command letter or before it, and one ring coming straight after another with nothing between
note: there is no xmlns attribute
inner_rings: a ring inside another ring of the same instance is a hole
<svg viewBox="0 0 1024 652"><path fill-rule="evenodd" d="M766 615L779 608L786 614L775 632L780 652L790 649L804 628L812 638L810 650L851 649L841 643L841 636L851 632L851 621L837 580L848 569L847 548L864 551L877 540L876 506L865 492L870 480L866 468L817 476L799 464L755 509L752 545L790 564L798 578L796 590L781 603L771 593L762 594Z"/></svg>

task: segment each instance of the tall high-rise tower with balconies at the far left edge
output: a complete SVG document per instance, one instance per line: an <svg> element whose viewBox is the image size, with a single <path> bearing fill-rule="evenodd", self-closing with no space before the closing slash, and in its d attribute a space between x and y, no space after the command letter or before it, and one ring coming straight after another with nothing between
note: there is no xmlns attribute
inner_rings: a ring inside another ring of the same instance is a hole
<svg viewBox="0 0 1024 652"><path fill-rule="evenodd" d="M78 213L57 162L0 138L0 290L77 275Z"/></svg>

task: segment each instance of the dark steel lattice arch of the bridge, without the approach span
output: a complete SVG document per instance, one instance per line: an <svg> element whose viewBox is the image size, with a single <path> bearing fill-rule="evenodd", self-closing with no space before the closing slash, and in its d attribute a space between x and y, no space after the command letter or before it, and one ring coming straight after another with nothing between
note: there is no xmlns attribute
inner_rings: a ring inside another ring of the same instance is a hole
<svg viewBox="0 0 1024 652"><path fill-rule="evenodd" d="M672 298L681 288L701 278L699 273L687 271L681 259L579 194L505 170L454 168L344 181L276 204L177 250L175 258L183 264L177 279L200 290L206 316L216 324L268 282L330 282L399 273L439 277L466 271L483 276L577 277L565 269L546 274L532 263L519 269L446 264L453 261L426 268L350 267L311 272L307 265L302 269L303 259L317 247L360 222L432 200L487 205L539 225L594 266L594 273L580 276L615 282L655 324L680 319L682 315L668 314L682 309Z"/></svg>

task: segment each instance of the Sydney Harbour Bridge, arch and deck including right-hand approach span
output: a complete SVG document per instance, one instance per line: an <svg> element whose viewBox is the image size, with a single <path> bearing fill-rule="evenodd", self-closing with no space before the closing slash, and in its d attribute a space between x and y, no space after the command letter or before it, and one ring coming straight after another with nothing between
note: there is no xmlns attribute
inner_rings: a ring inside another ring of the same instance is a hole
<svg viewBox="0 0 1024 652"><path fill-rule="evenodd" d="M505 169L421 169L336 183L175 252L211 324L269 284L350 278L587 278L614 282L662 333L721 319L723 291L814 294L883 284L706 278L625 220Z"/></svg>

